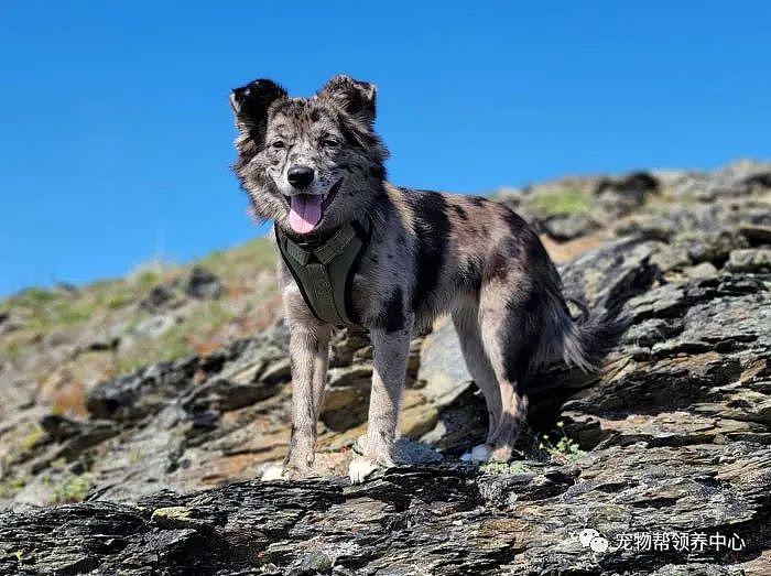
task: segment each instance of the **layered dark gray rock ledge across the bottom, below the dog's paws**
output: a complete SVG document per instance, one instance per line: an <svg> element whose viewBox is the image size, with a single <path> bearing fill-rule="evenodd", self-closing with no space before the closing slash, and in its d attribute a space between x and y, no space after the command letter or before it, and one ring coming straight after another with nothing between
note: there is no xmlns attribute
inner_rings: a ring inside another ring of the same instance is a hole
<svg viewBox="0 0 771 576"><path fill-rule="evenodd" d="M752 567L769 545L771 452L611 448L573 468L479 476L402 467L345 480L238 482L139 506L86 502L0 517L0 568L100 574L699 574ZM741 550L591 553L578 533L736 535ZM20 554L13 554L20 551Z"/></svg>

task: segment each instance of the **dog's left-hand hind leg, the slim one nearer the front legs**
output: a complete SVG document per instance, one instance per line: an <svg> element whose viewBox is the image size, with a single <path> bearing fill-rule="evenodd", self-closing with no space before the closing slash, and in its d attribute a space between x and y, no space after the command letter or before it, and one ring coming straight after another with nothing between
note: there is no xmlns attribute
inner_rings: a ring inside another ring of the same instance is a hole
<svg viewBox="0 0 771 576"><path fill-rule="evenodd" d="M478 302L467 298L456 307L453 311L453 324L458 334L466 368L468 368L471 378L474 378L474 382L481 390L487 403L488 427L486 442L489 443L498 430L502 405L496 372L492 369L490 359L487 357L481 338ZM478 446L471 453L465 455L464 459L476 459L484 452L485 445Z"/></svg>

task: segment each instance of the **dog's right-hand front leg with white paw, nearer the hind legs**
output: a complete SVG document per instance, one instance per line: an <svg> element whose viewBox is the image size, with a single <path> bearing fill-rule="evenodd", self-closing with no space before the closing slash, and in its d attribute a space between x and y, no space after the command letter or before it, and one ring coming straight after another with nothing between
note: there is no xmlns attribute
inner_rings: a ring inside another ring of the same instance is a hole
<svg viewBox="0 0 771 576"><path fill-rule="evenodd" d="M411 324L403 329L373 328L372 391L369 400L369 423L363 454L348 468L350 481L362 482L379 466L393 466L393 441L399 419L399 403L410 355Z"/></svg>

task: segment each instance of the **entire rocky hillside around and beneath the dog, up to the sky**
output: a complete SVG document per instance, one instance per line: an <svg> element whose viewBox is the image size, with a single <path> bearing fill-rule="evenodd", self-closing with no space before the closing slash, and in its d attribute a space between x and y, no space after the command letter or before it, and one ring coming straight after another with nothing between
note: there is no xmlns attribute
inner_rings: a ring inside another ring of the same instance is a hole
<svg viewBox="0 0 771 576"><path fill-rule="evenodd" d="M318 478L254 481L290 409L259 241L2 303L0 573L771 573L771 165L498 197L567 293L630 320L600 374L541 374L512 464L458 461L485 411L439 322L413 343L410 465L340 476L371 376L367 335L343 330Z"/></svg>

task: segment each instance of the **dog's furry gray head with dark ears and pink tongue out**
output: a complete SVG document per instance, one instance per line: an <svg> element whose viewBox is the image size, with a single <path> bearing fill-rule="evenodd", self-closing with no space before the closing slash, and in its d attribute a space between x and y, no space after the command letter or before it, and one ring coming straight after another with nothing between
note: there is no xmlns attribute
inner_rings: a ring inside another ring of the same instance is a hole
<svg viewBox="0 0 771 576"><path fill-rule="evenodd" d="M376 88L335 76L311 98L271 80L235 89L234 170L257 216L295 235L332 229L382 189L387 151L372 129Z"/></svg>

